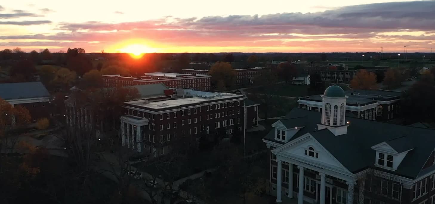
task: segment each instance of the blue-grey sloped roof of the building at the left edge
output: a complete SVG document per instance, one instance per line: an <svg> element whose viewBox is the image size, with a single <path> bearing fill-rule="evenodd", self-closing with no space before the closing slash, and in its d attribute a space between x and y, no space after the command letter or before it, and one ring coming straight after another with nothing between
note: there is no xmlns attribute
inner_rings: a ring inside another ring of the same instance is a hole
<svg viewBox="0 0 435 204"><path fill-rule="evenodd" d="M50 97L40 81L0 84L0 98L4 100Z"/></svg>

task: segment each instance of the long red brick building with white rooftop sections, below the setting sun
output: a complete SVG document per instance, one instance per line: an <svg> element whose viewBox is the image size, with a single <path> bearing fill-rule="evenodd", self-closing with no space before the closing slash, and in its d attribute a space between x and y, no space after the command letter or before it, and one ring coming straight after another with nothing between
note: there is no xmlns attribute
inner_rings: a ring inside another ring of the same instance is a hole
<svg viewBox="0 0 435 204"><path fill-rule="evenodd" d="M208 74L176 74L153 72L144 73L142 77L121 77L119 74L103 75L104 87L132 86L144 84L164 84L170 88L194 90L210 90L211 75Z"/></svg>

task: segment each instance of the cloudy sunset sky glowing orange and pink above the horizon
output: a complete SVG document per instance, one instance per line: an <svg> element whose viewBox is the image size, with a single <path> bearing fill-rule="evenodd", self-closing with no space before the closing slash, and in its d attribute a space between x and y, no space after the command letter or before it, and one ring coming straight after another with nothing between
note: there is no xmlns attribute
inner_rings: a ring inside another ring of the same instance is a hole
<svg viewBox="0 0 435 204"><path fill-rule="evenodd" d="M435 0L0 1L0 50L430 52Z"/></svg>

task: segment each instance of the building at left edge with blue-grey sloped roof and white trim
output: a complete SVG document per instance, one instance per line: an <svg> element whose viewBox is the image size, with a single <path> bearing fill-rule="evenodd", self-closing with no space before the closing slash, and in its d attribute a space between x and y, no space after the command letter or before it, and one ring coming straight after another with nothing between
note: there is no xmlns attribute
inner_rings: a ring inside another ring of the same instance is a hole
<svg viewBox="0 0 435 204"><path fill-rule="evenodd" d="M29 110L30 121L49 117L51 95L45 86L37 82L0 84L0 98L13 106L23 106ZM15 123L15 121L13 121Z"/></svg>

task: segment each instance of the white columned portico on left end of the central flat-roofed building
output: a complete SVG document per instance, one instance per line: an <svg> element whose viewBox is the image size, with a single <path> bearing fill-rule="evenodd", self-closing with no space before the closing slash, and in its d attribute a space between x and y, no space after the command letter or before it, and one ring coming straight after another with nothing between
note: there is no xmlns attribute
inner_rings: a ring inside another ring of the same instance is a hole
<svg viewBox="0 0 435 204"><path fill-rule="evenodd" d="M148 126L148 119L131 115L121 116L122 146L141 152L143 150L142 135Z"/></svg>

